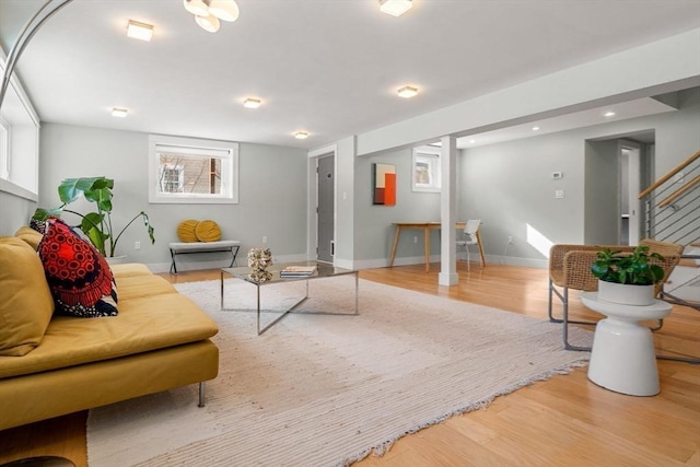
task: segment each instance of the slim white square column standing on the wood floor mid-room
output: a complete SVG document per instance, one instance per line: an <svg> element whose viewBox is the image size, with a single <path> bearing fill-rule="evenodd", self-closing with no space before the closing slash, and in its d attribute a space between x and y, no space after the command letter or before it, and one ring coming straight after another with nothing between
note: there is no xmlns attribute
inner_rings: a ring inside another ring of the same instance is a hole
<svg viewBox="0 0 700 467"><path fill-rule="evenodd" d="M440 285L455 285L457 276L456 242L457 233L457 143L455 137L442 137L442 151L440 153L440 168L442 172L442 191L440 194Z"/></svg>

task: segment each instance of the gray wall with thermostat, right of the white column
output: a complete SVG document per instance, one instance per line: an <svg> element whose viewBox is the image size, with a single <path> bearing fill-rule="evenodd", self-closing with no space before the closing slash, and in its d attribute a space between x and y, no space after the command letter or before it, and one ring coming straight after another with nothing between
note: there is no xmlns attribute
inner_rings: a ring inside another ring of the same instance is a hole
<svg viewBox="0 0 700 467"><path fill-rule="evenodd" d="M458 212L483 219L487 255L506 256L510 264L546 264L546 255L528 242L528 225L552 243L614 242L618 194L608 184L617 184L617 159L602 160L594 150L602 143L587 141L654 130L656 179L700 149L700 90L680 92L679 105L678 112L463 150ZM615 150L604 152L615 154L617 142L610 144ZM556 171L563 178L552 179ZM565 197L555 199L555 189ZM509 235L515 243L506 250Z"/></svg>

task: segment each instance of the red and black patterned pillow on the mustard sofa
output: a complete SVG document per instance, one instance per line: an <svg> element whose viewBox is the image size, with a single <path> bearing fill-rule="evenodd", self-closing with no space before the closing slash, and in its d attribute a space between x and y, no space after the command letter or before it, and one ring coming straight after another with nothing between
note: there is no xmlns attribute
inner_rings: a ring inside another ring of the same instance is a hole
<svg viewBox="0 0 700 467"><path fill-rule="evenodd" d="M90 242L60 219L50 219L38 252L57 313L78 317L117 315L114 276Z"/></svg>

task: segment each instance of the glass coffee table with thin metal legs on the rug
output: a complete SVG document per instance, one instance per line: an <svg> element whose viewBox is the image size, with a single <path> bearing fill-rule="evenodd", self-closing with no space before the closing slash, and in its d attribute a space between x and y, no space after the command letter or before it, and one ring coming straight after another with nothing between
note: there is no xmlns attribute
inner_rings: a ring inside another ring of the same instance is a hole
<svg viewBox="0 0 700 467"><path fill-rule="evenodd" d="M302 277L280 277L280 271L288 266L316 266L316 271L312 276L302 276ZM327 279L337 276L354 276L354 313L353 315L358 315L358 288L359 288L359 277L358 271L353 271L350 269L337 268L332 265L327 265L324 262L287 262L287 264L276 264L272 265L268 269L272 273L272 278L265 282L256 282L250 278L250 273L253 272L252 268L241 267L241 268L222 268L221 269L221 310L228 310L224 307L223 303L223 287L224 287L224 276L232 276L236 279L242 279L257 288L257 328L258 336L275 326L279 323L288 314L292 313L296 310L302 303L304 303L308 299L308 282L316 279ZM280 316L275 318L272 322L265 325L265 327L260 327L260 289L265 285L276 284L280 282L298 282L298 281L306 281L306 293L292 307L287 311L283 311ZM324 313L329 315L349 315L348 313Z"/></svg>

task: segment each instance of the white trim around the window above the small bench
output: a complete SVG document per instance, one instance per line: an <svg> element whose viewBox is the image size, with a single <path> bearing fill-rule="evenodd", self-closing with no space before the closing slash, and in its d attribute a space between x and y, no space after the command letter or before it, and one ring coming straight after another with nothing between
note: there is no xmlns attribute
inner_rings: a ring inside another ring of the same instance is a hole
<svg viewBox="0 0 700 467"><path fill-rule="evenodd" d="M222 159L221 195L191 192L161 192L159 187L159 149L171 147L180 153L210 154ZM149 136L149 202L178 205L236 205L238 202L238 143L198 138L180 138L161 135Z"/></svg>

